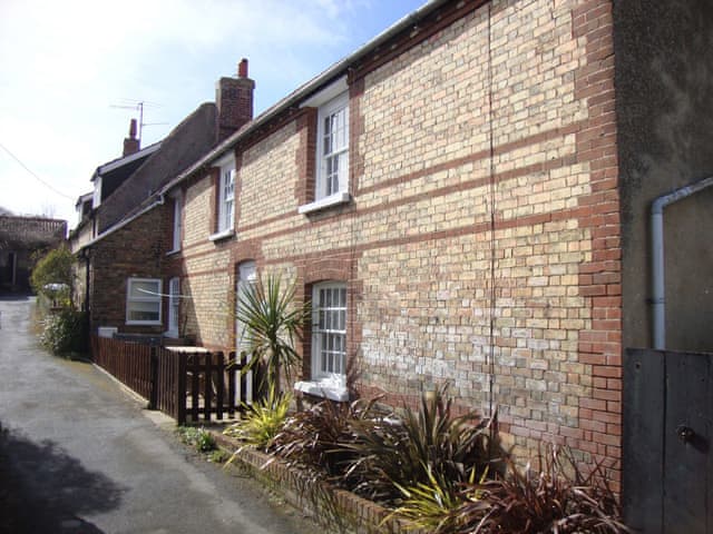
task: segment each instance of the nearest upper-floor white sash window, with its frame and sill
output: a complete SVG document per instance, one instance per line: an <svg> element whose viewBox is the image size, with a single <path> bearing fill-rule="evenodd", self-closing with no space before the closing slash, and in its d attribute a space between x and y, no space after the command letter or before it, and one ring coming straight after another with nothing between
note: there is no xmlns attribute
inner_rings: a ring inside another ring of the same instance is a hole
<svg viewBox="0 0 713 534"><path fill-rule="evenodd" d="M300 206L300 214L309 214L330 206L348 202L349 195L349 91L346 79L341 78L302 103L319 107L316 117L316 152L314 201ZM335 130L329 135L326 119L336 117ZM329 142L328 142L329 141ZM331 161L336 161L336 176L330 172ZM332 180L336 180L336 185Z"/></svg>

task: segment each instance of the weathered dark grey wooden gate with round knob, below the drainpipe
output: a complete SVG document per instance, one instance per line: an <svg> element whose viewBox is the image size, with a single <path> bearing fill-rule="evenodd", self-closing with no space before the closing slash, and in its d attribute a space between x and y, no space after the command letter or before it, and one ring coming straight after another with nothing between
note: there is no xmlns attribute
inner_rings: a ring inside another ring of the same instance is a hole
<svg viewBox="0 0 713 534"><path fill-rule="evenodd" d="M713 534L713 354L627 349L623 505L646 534Z"/></svg>

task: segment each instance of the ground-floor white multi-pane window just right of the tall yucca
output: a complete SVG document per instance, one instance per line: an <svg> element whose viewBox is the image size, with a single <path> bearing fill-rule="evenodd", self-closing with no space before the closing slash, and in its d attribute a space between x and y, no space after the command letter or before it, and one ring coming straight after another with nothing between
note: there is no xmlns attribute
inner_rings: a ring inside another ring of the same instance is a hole
<svg viewBox="0 0 713 534"><path fill-rule="evenodd" d="M346 285L312 289L312 379L344 385L346 373Z"/></svg>

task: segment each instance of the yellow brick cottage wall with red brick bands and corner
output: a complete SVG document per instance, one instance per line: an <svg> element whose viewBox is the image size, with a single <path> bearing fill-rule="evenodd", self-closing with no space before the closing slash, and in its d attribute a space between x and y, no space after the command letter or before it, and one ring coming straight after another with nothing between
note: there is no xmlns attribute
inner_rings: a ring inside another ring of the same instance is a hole
<svg viewBox="0 0 713 534"><path fill-rule="evenodd" d="M616 483L611 3L477 3L449 6L440 20L452 22L351 75L352 202L297 212L310 199L310 111L238 148L234 238L207 239L212 177L188 187L191 328L208 346L231 343L244 259L305 293L344 280L364 392L412 403L450 380L462 408L497 407L516 454L566 443L583 462L607 458Z"/></svg>

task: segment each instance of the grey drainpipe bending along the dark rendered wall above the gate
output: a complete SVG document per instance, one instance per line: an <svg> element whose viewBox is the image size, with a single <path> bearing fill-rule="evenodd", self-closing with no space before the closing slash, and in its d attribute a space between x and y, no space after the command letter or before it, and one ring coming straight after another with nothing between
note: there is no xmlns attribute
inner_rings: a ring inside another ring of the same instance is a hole
<svg viewBox="0 0 713 534"><path fill-rule="evenodd" d="M666 303L664 285L664 208L706 187L713 186L713 176L676 189L655 199L651 206L652 240L652 306L654 348L666 348Z"/></svg>

